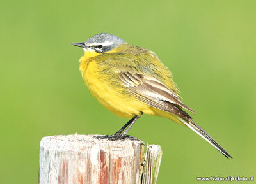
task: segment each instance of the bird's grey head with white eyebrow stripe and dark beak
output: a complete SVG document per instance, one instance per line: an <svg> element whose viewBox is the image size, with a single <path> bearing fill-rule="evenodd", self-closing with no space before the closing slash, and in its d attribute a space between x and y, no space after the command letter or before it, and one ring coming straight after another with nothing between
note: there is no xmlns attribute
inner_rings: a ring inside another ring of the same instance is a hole
<svg viewBox="0 0 256 184"><path fill-rule="evenodd" d="M84 50L95 50L97 53L104 53L122 45L122 43L125 43L125 41L113 34L100 33L89 38L86 42L72 43L72 45L79 46Z"/></svg>

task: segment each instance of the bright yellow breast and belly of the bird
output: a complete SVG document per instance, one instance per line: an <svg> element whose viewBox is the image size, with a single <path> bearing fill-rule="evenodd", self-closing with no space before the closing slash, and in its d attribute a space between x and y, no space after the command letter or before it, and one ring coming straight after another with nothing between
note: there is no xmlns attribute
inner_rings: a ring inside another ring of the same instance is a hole
<svg viewBox="0 0 256 184"><path fill-rule="evenodd" d="M147 104L141 103L132 96L125 96L122 93L123 89L116 88L115 85L106 82L109 76L104 76L99 71L99 64L93 59L95 57L81 57L79 60L80 71L90 92L103 106L124 118L139 115L140 111L148 114L153 113Z"/></svg>

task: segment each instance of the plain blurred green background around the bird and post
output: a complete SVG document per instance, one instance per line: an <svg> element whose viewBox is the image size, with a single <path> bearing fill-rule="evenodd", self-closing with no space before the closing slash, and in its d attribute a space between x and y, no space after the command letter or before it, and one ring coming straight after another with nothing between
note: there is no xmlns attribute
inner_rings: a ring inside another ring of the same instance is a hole
<svg viewBox="0 0 256 184"><path fill-rule="evenodd" d="M127 122L92 97L78 68L83 51L70 45L100 32L154 51L195 122L234 157L145 115L130 134L163 148L157 183L256 176L255 22L255 1L2 1L0 183L38 182L44 136L111 134Z"/></svg>

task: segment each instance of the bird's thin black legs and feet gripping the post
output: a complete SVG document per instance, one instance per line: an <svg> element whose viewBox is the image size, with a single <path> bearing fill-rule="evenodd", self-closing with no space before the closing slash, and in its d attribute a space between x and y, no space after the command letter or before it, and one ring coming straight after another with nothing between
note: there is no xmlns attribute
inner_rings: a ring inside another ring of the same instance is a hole
<svg viewBox="0 0 256 184"><path fill-rule="evenodd" d="M141 112L142 115L142 112ZM98 139L109 139L109 140L118 140L118 139L124 139L126 137L127 132L131 129L132 125L140 118L141 115L135 115L129 122L127 122L119 131L117 131L115 134L111 136L97 136ZM125 130L126 129L126 130ZM123 133L122 133L123 132ZM127 136L131 139L134 139L132 136Z"/></svg>

